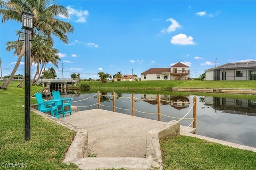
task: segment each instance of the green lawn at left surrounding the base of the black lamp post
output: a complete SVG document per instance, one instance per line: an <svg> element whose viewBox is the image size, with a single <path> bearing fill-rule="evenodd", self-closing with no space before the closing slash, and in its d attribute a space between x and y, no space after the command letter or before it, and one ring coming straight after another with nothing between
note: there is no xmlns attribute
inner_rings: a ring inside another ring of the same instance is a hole
<svg viewBox="0 0 256 170"><path fill-rule="evenodd" d="M17 88L18 84L13 82L7 90L0 90L0 169L20 169L13 168L15 164L30 170L75 168L74 164L61 164L74 136L72 130L31 112L31 139L24 140L24 88ZM32 86L31 94L41 89ZM31 98L31 104L35 103Z"/></svg>

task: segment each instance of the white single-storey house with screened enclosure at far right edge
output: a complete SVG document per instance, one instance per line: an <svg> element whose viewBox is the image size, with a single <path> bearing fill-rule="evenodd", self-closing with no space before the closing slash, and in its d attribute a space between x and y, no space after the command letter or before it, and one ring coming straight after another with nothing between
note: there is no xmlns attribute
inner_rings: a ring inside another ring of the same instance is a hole
<svg viewBox="0 0 256 170"><path fill-rule="evenodd" d="M256 61L234 62L205 71L205 80L256 80Z"/></svg>

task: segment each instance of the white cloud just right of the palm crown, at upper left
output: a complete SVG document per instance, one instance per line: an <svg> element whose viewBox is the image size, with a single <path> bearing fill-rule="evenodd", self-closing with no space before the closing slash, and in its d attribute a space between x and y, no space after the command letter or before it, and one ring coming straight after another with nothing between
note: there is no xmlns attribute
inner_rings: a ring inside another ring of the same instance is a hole
<svg viewBox="0 0 256 170"><path fill-rule="evenodd" d="M76 10L74 9L75 6L67 6L68 15L70 20L74 22L86 22L86 17L89 15L88 10ZM64 16L60 16L61 18L66 18Z"/></svg>

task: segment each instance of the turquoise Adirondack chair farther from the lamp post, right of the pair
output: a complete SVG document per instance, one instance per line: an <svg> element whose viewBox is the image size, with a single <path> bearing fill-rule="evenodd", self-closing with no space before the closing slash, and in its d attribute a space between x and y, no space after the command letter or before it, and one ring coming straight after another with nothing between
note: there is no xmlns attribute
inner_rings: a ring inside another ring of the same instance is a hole
<svg viewBox="0 0 256 170"><path fill-rule="evenodd" d="M66 113L70 113L70 115L72 115L71 100L73 100L73 98L61 98L59 91L52 92L52 96L53 100L58 100L57 106L60 107L59 113L63 115L63 118ZM69 110L65 111L65 106L69 106Z"/></svg>

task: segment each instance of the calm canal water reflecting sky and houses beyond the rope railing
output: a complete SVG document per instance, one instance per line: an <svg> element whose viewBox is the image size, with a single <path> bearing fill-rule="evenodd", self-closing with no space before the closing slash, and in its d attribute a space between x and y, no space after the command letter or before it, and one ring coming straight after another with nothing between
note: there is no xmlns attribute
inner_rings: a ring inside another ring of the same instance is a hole
<svg viewBox="0 0 256 170"><path fill-rule="evenodd" d="M112 111L112 93L100 93L100 108ZM116 93L116 112L132 115L132 94ZM68 94L77 111L98 108L97 93ZM135 94L135 116L157 120L157 95ZM193 117L194 96L160 95L161 121ZM256 100L196 96L196 134L256 148ZM85 100L86 99L86 100ZM86 106L86 107L85 107ZM192 108L192 109L191 109ZM75 114L75 113L74 113ZM181 120L189 126L191 119ZM192 127L192 125L190 125Z"/></svg>

